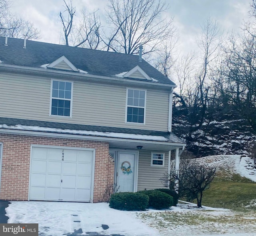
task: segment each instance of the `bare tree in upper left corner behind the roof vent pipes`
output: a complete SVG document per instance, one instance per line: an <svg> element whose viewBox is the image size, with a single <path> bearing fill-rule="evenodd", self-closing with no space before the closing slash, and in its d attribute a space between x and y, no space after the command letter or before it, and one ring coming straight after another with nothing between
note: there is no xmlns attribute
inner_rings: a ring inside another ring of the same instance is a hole
<svg viewBox="0 0 256 236"><path fill-rule="evenodd" d="M40 31L30 21L10 13L10 1L0 0L0 36L40 38Z"/></svg>

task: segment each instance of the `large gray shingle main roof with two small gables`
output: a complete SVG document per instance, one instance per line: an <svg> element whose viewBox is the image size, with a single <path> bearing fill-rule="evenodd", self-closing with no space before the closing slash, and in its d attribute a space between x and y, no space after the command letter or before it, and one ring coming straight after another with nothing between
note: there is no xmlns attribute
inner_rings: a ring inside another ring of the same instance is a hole
<svg viewBox="0 0 256 236"><path fill-rule="evenodd" d="M144 60L138 62L138 55L75 48L32 40L26 41L25 49L23 48L24 40L16 38L8 38L8 46L4 46L4 43L5 38L0 37L1 64L41 68L44 70L40 66L50 64L64 55L76 68L95 76L115 77L116 74L130 71L139 65L148 76L158 80L159 83L175 85L174 82L156 70L148 62Z"/></svg>

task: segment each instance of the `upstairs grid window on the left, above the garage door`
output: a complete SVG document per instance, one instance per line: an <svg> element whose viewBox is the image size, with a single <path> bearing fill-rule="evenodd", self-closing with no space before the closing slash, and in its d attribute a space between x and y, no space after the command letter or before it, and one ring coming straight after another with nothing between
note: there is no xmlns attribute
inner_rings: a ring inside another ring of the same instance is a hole
<svg viewBox="0 0 256 236"><path fill-rule="evenodd" d="M50 115L71 117L73 82L52 80Z"/></svg>

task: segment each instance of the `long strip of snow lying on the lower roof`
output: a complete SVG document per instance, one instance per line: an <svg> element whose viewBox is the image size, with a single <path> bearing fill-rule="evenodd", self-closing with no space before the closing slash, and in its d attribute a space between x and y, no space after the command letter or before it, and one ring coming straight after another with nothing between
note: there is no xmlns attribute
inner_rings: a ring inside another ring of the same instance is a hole
<svg viewBox="0 0 256 236"><path fill-rule="evenodd" d="M13 129L13 130L26 130L26 131L40 131L40 132L55 132L55 133L68 133L68 134L79 134L88 136L103 136L109 138L125 138L125 139L137 139L137 140L152 140L152 141L168 141L164 136L153 136L153 135L142 135L142 134L125 134L125 133L114 133L114 132L98 132L98 131L87 131L87 130L67 130L58 128L46 128L40 126L24 126L15 125L8 126L6 124L0 124L0 128Z"/></svg>

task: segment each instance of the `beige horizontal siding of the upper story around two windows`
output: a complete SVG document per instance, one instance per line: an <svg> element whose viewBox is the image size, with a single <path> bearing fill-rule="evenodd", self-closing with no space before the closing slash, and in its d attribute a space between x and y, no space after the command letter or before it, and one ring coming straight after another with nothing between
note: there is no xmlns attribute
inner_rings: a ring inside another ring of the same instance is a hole
<svg viewBox="0 0 256 236"><path fill-rule="evenodd" d="M51 78L16 74L0 75L0 116L149 130L168 128L168 92L147 90L146 124L126 124L126 86L61 80L74 82L72 118L49 116Z"/></svg>

